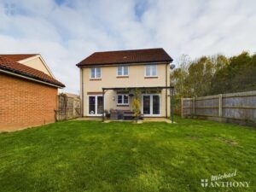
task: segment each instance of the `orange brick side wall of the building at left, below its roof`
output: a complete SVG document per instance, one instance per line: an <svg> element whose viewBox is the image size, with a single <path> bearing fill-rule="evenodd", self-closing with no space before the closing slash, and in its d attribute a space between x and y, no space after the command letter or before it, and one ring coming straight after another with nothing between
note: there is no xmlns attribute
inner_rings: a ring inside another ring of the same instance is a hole
<svg viewBox="0 0 256 192"><path fill-rule="evenodd" d="M55 122L57 88L0 73L0 131Z"/></svg>

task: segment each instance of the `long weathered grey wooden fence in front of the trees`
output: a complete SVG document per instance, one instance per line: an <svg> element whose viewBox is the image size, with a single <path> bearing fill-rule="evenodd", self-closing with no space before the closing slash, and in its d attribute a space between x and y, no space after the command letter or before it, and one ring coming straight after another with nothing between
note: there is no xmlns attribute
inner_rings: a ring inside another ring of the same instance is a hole
<svg viewBox="0 0 256 192"><path fill-rule="evenodd" d="M181 108L182 117L201 117L256 126L256 90L183 98Z"/></svg>

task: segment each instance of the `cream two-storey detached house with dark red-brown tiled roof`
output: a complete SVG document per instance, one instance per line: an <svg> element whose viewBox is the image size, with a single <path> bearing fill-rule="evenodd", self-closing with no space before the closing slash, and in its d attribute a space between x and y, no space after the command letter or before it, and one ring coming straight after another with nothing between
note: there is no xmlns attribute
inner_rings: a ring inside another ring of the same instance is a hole
<svg viewBox="0 0 256 192"><path fill-rule="evenodd" d="M169 116L171 62L164 49L96 52L86 57L77 64L83 116L102 116L110 109L131 111L136 90L144 117Z"/></svg>

